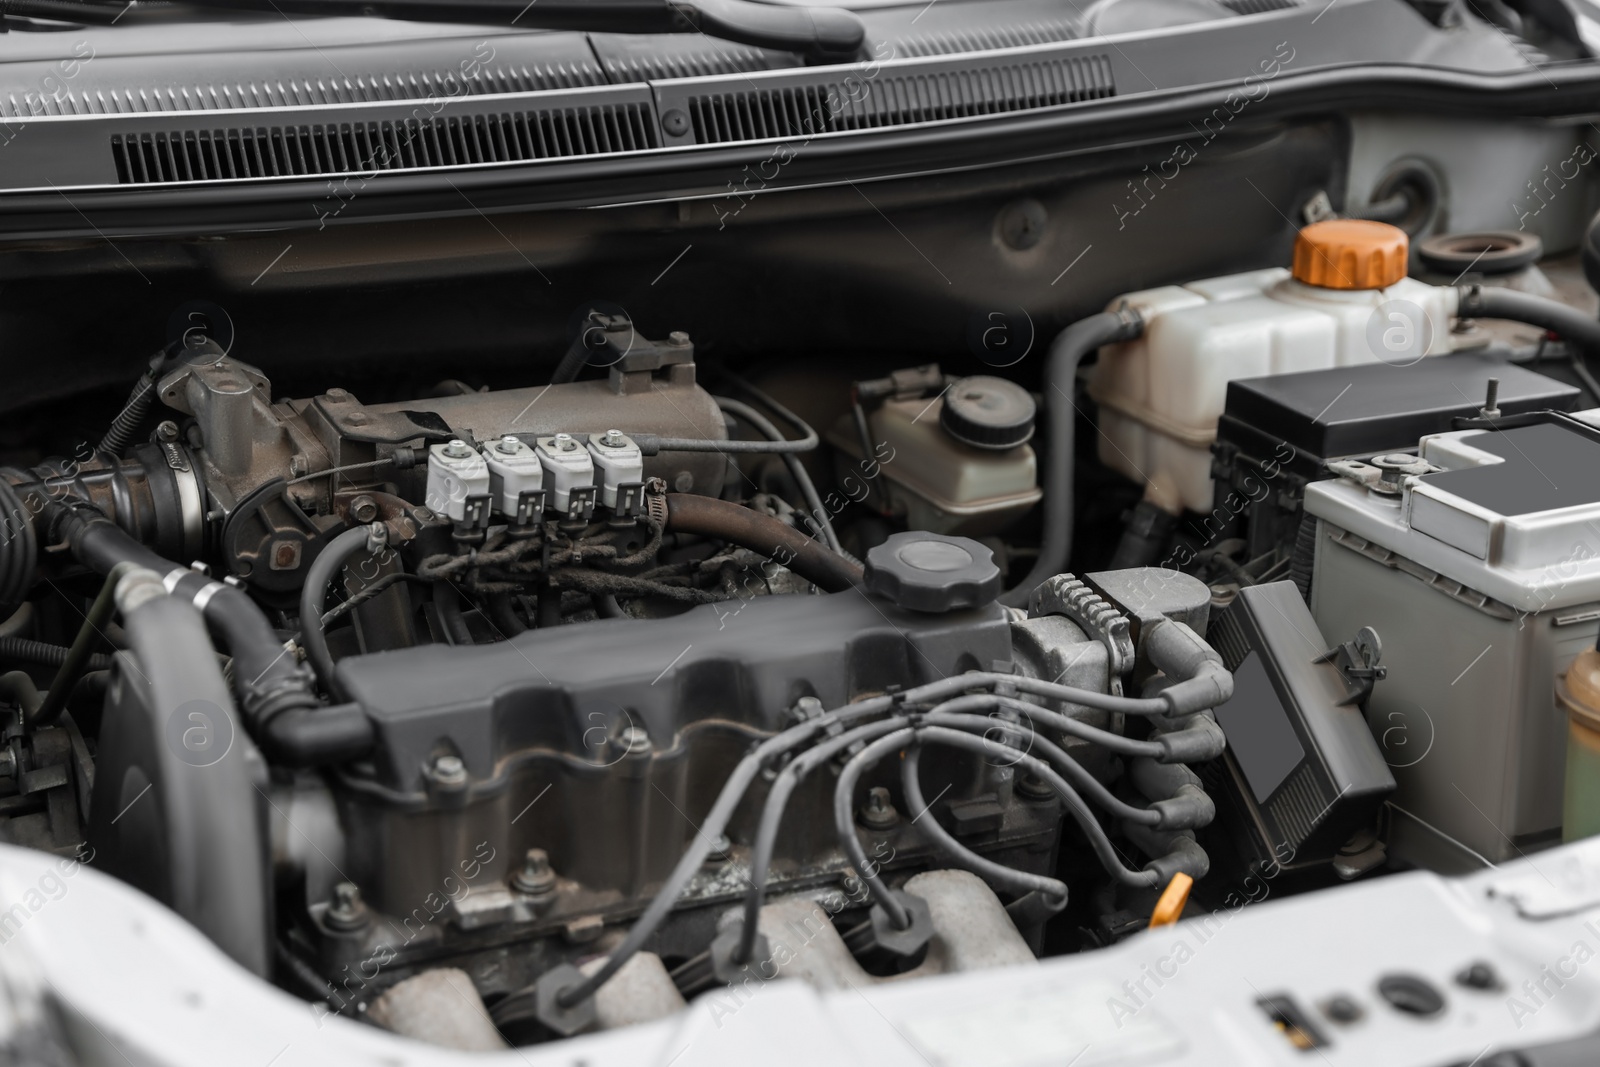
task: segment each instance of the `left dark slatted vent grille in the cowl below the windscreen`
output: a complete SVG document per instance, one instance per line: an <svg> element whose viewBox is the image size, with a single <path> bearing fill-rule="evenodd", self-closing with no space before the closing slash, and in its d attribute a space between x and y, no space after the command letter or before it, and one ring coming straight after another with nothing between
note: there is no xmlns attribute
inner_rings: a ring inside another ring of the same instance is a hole
<svg viewBox="0 0 1600 1067"><path fill-rule="evenodd" d="M117 181L216 181L370 174L653 149L645 106L338 125L254 126L112 136Z"/></svg>

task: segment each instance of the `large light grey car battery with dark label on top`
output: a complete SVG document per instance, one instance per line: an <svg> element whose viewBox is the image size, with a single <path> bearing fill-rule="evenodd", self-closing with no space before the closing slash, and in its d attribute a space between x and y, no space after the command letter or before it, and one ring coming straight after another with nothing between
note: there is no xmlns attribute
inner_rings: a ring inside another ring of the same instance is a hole
<svg viewBox="0 0 1600 1067"><path fill-rule="evenodd" d="M1366 718L1392 803L1491 862L1560 837L1555 680L1600 627L1597 421L1498 419L1306 486L1312 616L1382 641Z"/></svg>

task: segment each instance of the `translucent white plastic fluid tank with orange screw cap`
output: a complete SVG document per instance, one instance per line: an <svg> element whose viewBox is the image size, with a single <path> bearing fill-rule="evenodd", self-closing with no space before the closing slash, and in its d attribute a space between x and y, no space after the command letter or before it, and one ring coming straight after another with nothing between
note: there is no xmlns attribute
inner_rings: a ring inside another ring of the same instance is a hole
<svg viewBox="0 0 1600 1067"><path fill-rule="evenodd" d="M1293 270L1274 267L1128 293L1136 341L1107 346L1090 378L1099 458L1179 514L1211 510L1211 442L1227 384L1354 363L1397 366L1451 350L1458 293L1406 277L1406 235L1384 222L1314 222ZM1338 392L1328 395L1330 406Z"/></svg>

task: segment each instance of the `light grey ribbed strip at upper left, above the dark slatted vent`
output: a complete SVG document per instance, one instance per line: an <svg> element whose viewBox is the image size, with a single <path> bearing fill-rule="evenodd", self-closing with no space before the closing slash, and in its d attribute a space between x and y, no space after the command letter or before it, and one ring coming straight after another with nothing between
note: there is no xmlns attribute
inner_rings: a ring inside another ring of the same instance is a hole
<svg viewBox="0 0 1600 1067"><path fill-rule="evenodd" d="M520 64L483 69L470 78L453 70L408 70L350 78L286 78L234 85L170 85L80 93L8 93L0 117L141 115L149 112L235 110L240 107L314 107L318 104L381 104L486 93L533 93L605 85L590 64Z"/></svg>

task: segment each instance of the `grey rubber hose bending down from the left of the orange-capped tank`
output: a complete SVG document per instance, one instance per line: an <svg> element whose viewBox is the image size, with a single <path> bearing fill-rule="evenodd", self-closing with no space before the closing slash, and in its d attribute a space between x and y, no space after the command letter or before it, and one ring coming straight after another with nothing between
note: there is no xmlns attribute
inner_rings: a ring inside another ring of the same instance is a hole
<svg viewBox="0 0 1600 1067"><path fill-rule="evenodd" d="M1021 584L1008 589L1000 603L1026 608L1027 598L1042 582L1067 569L1072 555L1072 464L1075 458L1074 432L1077 403L1078 363L1102 344L1133 341L1144 333L1144 320L1133 309L1101 312L1078 320L1056 334L1050 346L1050 363L1045 366L1045 413L1050 419L1050 437L1045 446L1045 464L1040 485L1045 486L1045 533L1038 545L1038 560Z"/></svg>

